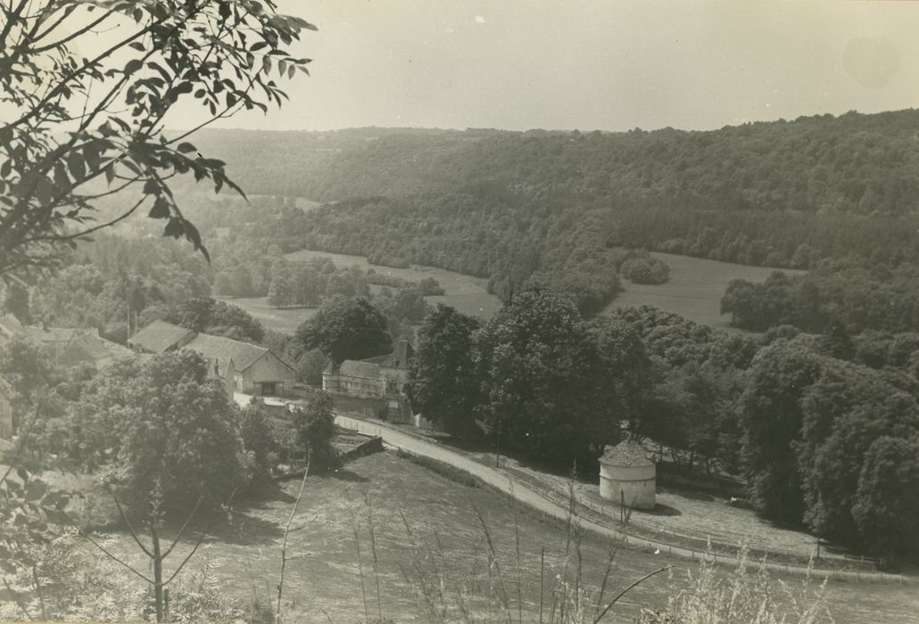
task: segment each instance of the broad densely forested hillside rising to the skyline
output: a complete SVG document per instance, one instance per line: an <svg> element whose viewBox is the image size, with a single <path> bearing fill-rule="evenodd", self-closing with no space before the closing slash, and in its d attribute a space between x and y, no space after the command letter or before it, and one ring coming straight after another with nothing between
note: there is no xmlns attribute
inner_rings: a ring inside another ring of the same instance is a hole
<svg viewBox="0 0 919 624"><path fill-rule="evenodd" d="M590 313L618 290L620 246L916 260L917 130L905 110L691 132L214 130L199 148L252 193L334 202L306 215L302 246L489 276L499 295L548 284Z"/></svg>

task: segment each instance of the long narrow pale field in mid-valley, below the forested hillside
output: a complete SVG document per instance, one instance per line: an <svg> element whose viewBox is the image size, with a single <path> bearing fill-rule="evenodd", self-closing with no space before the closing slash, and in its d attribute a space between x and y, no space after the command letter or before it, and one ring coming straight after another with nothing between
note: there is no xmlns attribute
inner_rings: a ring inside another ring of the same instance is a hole
<svg viewBox="0 0 919 624"><path fill-rule="evenodd" d="M453 273L444 269L437 269L431 266L413 266L409 269L393 269L388 266L375 266L367 262L363 256L350 256L344 253L331 253L328 251L310 251L302 250L287 254L285 257L289 261L303 262L310 258L322 256L331 258L338 266L357 265L365 271L373 269L383 275L392 275L394 277L408 280L409 282L420 282L425 277L433 277L440 283L444 289L444 295L427 296L427 303L432 306L442 303L447 306L455 307L459 312L481 318L492 318L501 308L501 302L498 297L489 295L486 289L488 280L481 277L472 277L461 273Z"/></svg>

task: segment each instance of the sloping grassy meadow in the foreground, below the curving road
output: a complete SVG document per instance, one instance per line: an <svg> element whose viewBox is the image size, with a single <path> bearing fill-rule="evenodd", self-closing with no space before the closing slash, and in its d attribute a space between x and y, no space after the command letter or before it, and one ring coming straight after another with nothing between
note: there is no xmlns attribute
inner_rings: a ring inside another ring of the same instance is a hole
<svg viewBox="0 0 919 624"><path fill-rule="evenodd" d="M259 613L270 615L280 541L300 485L286 482L222 520L181 575L176 599L180 588L205 602L220 595L245 606L255 598ZM359 459L335 475L310 477L291 526L283 605L287 622L358 622L380 614L392 621L431 621L440 619L437 614L459 621L539 621L540 572L544 621L550 621L553 604L554 621L562 621L562 605L568 616L564 621L592 621L601 585L611 599L670 563L669 581L659 574L638 585L603 621L629 621L641 617L642 609L665 614L668 607L679 609L681 617L647 621L746 621L737 619L746 613L738 610L741 601L749 606L750 599L766 597L785 604L790 616L795 607L787 595L801 595L800 576L784 579L786 592L779 585L781 576L757 585L751 572L743 585L721 568L699 571L698 563L630 551L615 552L604 584L607 542L586 533L573 539L558 523L543 523L489 490L459 485L391 453ZM125 533L111 533L105 543L120 554L136 552ZM88 557L98 560L92 552ZM134 554L128 558L140 561ZM85 576L99 578L99 570L106 570L104 561L97 562L95 574L86 570ZM914 585L831 583L827 589L836 621L916 621ZM127 587L120 593L130 595ZM716 610L723 617L706 617L707 605L720 605ZM685 618L688 613L695 615Z"/></svg>

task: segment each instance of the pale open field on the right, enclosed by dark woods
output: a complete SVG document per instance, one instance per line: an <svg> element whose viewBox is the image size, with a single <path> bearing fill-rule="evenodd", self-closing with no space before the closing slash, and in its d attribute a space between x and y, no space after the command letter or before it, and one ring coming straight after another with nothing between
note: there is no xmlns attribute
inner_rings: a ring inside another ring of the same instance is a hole
<svg viewBox="0 0 919 624"><path fill-rule="evenodd" d="M689 320L720 329L730 329L730 316L721 316L721 296L731 280L762 282L773 271L789 275L805 273L793 269L769 269L703 258L677 256L672 253L651 254L670 265L670 281L666 284L632 284L622 280L623 292L607 306L607 311L624 306L656 306L670 310Z"/></svg>

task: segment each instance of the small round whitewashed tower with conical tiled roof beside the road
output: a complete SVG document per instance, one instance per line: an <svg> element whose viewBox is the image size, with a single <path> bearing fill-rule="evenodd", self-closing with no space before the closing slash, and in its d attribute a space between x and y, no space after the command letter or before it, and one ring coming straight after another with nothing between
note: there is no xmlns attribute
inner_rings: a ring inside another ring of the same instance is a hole
<svg viewBox="0 0 919 624"><path fill-rule="evenodd" d="M607 446L600 458L600 496L626 507L653 509L656 466L641 444Z"/></svg>

